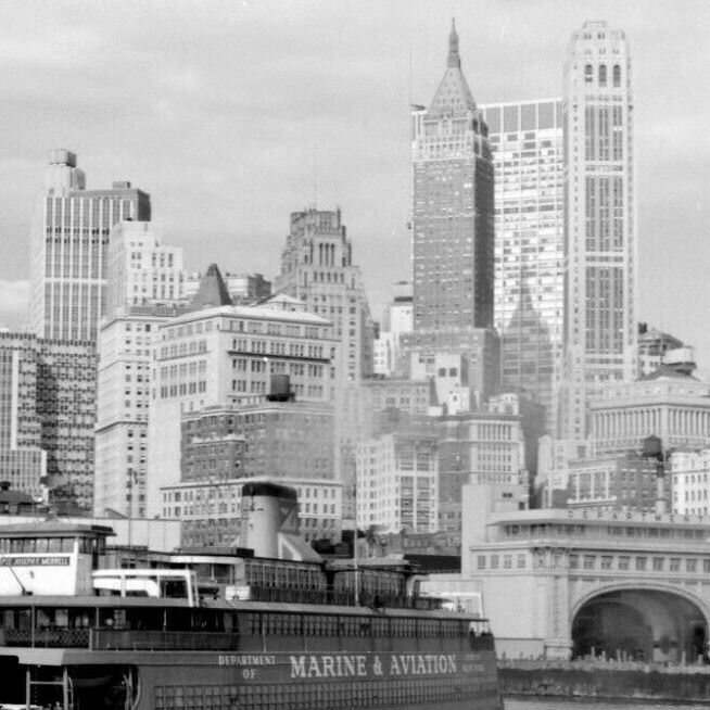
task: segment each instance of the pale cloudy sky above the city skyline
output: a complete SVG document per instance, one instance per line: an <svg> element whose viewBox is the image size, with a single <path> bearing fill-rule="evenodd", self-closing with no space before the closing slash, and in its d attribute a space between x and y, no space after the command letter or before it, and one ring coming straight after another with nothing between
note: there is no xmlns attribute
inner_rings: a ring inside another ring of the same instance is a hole
<svg viewBox="0 0 710 710"><path fill-rule="evenodd" d="M77 153L88 188L150 192L189 270L271 278L289 214L340 206L379 317L409 274L409 105L433 97L453 15L479 103L561 96L572 31L626 31L638 318L710 368L705 0L3 0L0 321L26 322L53 148Z"/></svg>

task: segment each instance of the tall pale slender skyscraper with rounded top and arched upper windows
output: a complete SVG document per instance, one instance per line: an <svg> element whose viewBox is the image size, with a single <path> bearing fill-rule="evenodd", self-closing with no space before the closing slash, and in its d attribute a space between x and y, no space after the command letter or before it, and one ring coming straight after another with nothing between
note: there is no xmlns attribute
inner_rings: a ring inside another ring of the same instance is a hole
<svg viewBox="0 0 710 710"><path fill-rule="evenodd" d="M565 67L565 380L561 431L586 434L588 400L636 372L631 59L624 33L587 22Z"/></svg>

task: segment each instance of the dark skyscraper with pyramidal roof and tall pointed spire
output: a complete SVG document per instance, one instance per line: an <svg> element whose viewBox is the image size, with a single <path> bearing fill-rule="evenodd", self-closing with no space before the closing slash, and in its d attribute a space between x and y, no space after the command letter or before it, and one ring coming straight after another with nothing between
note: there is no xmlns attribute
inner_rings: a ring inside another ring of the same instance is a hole
<svg viewBox="0 0 710 710"><path fill-rule="evenodd" d="M493 162L452 27L446 72L413 113L414 330L493 326Z"/></svg>

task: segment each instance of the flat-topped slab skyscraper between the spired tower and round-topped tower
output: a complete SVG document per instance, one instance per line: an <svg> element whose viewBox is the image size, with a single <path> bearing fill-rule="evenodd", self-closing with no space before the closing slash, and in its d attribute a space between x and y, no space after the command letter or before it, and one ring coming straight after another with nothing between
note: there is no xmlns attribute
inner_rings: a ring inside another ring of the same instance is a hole
<svg viewBox="0 0 710 710"><path fill-rule="evenodd" d="M500 385L543 405L556 431L565 307L560 99L481 106L495 165L495 327Z"/></svg>

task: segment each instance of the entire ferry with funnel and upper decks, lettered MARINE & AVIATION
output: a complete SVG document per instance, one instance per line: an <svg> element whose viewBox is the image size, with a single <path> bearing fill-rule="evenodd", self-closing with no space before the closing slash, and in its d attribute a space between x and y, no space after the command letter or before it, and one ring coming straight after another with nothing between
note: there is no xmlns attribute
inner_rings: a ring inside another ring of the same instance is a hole
<svg viewBox="0 0 710 710"><path fill-rule="evenodd" d="M502 708L485 620L419 595L402 560L295 561L294 492L249 486L261 517L242 524L278 554L178 551L123 569L110 528L0 527L0 705Z"/></svg>

